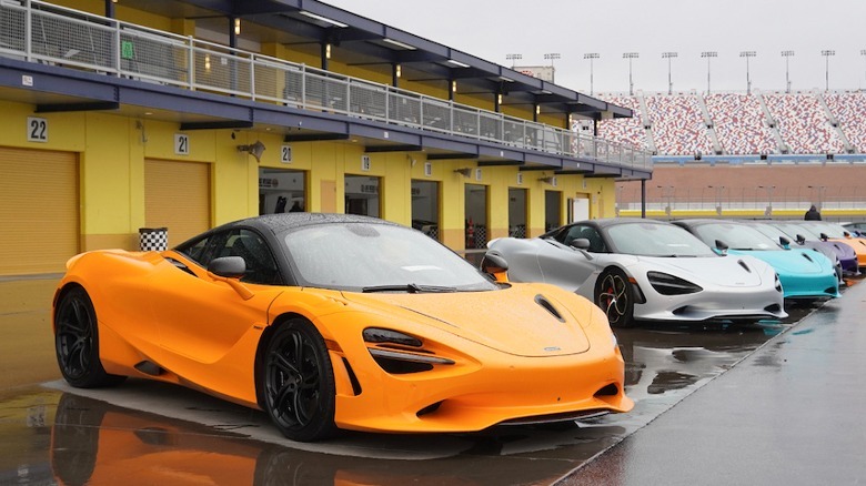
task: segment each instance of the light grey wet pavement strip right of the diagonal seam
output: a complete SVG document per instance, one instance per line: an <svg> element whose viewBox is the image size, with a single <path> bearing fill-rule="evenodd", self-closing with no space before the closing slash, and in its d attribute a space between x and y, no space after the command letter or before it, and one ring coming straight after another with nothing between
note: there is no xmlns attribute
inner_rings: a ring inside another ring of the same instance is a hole
<svg viewBox="0 0 866 486"><path fill-rule="evenodd" d="M855 285L558 484L865 484L864 391Z"/></svg>

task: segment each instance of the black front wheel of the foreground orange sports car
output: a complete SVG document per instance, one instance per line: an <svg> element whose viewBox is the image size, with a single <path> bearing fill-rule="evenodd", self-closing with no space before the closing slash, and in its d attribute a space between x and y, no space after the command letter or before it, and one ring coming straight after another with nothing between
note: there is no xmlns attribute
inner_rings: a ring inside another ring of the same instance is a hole
<svg viewBox="0 0 866 486"><path fill-rule="evenodd" d="M288 438L315 442L336 433L336 388L324 340L309 322L281 325L264 348L260 389L265 412Z"/></svg>

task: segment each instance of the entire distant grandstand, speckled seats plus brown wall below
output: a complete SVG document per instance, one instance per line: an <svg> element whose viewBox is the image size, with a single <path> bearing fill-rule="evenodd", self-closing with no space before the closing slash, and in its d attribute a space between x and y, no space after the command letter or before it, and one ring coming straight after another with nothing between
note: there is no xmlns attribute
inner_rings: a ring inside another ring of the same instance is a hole
<svg viewBox="0 0 866 486"><path fill-rule="evenodd" d="M618 214L866 219L866 92L597 95L635 111L598 134L654 154L651 181L618 183Z"/></svg>

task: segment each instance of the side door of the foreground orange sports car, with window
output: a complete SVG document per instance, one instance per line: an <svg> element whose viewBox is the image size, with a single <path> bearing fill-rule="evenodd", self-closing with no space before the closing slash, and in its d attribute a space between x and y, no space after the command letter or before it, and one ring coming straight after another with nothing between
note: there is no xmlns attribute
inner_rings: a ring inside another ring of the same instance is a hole
<svg viewBox="0 0 866 486"><path fill-rule="evenodd" d="M249 247L252 240L260 243L258 262L251 261L254 256L250 254L240 254L241 242ZM182 371L194 383L208 383L218 369L220 373L252 371L255 343L268 324L268 308L283 292L282 286L254 281L264 279L272 283L273 275L279 275L272 252L255 232L216 233L203 246L205 250L197 255L199 261L174 253L174 264L161 269L150 282L163 351L161 363L178 374ZM232 286L208 274L207 264L220 256L244 257L248 276L242 282L246 282L252 297L244 298ZM250 275L254 276L253 281ZM249 348L253 352L242 353Z"/></svg>

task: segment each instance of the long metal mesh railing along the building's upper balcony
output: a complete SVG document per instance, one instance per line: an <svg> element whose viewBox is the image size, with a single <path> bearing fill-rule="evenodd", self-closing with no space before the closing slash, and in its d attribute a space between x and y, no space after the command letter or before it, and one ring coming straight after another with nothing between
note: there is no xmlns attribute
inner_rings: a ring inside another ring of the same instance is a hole
<svg viewBox="0 0 866 486"><path fill-rule="evenodd" d="M38 0L0 0L0 55L652 171L617 142Z"/></svg>

